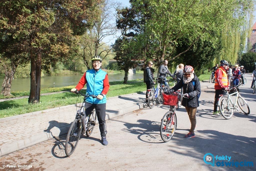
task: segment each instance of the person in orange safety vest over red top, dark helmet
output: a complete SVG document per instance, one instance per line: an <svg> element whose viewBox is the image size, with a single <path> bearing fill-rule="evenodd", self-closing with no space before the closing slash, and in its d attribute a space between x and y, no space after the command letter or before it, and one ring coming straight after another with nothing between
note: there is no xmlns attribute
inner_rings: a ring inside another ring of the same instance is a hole
<svg viewBox="0 0 256 171"><path fill-rule="evenodd" d="M229 69L229 64L226 60L220 61L220 67L215 72L215 97L214 97L214 109L213 115L219 116L221 115L219 111L217 111L219 95L224 94L225 90L228 89L228 75L226 71Z"/></svg>

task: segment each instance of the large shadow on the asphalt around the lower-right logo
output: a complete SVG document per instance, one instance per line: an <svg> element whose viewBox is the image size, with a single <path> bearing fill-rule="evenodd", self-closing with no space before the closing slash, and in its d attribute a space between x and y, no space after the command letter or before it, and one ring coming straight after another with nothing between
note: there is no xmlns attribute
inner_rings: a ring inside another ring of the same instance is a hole
<svg viewBox="0 0 256 171"><path fill-rule="evenodd" d="M207 135L208 138L196 136L196 138L184 139L182 138L184 135L175 132L171 141L177 145L175 145L175 148L173 148L173 144L170 145L169 150L177 153L177 155L199 159L202 161L201 164L205 164L203 157L206 153L212 153L214 156L231 156L231 162L243 162L246 160L254 163L254 167L217 167L216 165L212 167L209 165L209 170L255 170L256 138L239 135L238 130L234 132L234 135L215 130L197 130L197 132ZM215 164L216 162L215 160Z"/></svg>

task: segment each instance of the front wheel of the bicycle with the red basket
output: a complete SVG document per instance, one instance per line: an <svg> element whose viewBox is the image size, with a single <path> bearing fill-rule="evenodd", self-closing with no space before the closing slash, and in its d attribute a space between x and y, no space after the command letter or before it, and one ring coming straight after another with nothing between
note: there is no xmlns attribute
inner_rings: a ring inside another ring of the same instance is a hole
<svg viewBox="0 0 256 171"><path fill-rule="evenodd" d="M160 135L164 142L172 139L177 127L177 117L173 111L165 113L160 126Z"/></svg>

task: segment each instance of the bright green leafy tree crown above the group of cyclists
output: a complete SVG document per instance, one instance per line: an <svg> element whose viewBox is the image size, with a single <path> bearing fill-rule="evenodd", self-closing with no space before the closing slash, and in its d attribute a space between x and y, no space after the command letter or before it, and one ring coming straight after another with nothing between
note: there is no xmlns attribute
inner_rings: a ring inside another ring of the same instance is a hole
<svg viewBox="0 0 256 171"><path fill-rule="evenodd" d="M179 58L191 48L195 48L196 42L217 42L216 39L220 38L219 35L226 24L231 24L233 28L238 28L243 24L242 16L249 6L247 0L138 0L130 2L131 8L126 10L127 13L124 13L118 24L123 28L126 27L127 32L130 30L127 36L131 35L133 39L136 39L138 35L143 35L141 36L144 37L143 41L148 42L150 47L147 51L156 57L158 65L164 59ZM146 19L145 16L147 16ZM135 34L131 34L133 32ZM186 43L186 49L177 53L177 48L183 46L185 39L190 44ZM200 43L197 44L199 45L197 49L200 49ZM218 45L211 44L214 49L218 49ZM138 45L144 44L138 42Z"/></svg>

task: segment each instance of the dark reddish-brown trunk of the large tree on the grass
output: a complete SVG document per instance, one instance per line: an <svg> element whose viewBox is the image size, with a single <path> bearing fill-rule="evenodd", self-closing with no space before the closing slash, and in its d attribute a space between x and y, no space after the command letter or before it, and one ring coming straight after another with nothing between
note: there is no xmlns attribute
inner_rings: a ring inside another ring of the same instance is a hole
<svg viewBox="0 0 256 171"><path fill-rule="evenodd" d="M41 53L37 56L31 52L31 70L30 70L30 94L28 103L38 103L40 101L41 88Z"/></svg>

